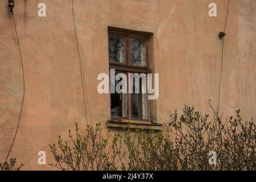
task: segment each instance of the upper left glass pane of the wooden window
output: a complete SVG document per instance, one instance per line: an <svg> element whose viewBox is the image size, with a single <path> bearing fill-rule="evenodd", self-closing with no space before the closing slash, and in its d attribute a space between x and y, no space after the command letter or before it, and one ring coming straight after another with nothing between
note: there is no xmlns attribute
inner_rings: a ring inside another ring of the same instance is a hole
<svg viewBox="0 0 256 182"><path fill-rule="evenodd" d="M109 35L109 60L126 63L126 38L124 36Z"/></svg>

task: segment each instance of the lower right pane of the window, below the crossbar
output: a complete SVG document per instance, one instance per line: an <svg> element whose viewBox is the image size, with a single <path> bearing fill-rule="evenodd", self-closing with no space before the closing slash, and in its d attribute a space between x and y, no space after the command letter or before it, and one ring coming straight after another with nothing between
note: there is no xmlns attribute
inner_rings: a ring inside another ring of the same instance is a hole
<svg viewBox="0 0 256 182"><path fill-rule="evenodd" d="M133 93L131 94L131 117L133 119L148 118L148 101L147 93L142 93L143 84L139 84L139 93L135 93L135 83Z"/></svg>

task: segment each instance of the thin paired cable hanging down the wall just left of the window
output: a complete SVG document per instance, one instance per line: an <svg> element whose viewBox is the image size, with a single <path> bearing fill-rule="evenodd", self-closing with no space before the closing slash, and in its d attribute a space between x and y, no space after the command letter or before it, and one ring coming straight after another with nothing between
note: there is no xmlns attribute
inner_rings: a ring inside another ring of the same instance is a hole
<svg viewBox="0 0 256 182"><path fill-rule="evenodd" d="M74 5L73 5L73 0L71 0L71 2L72 2L73 28L74 28L75 39L76 39L77 53L78 53L78 56L79 56L79 67L80 67L80 76L81 76L81 83L82 83L82 94L83 94L83 97L84 97L85 118L86 118L86 123L88 124L85 97L86 97L86 100L87 100L87 102L88 102L89 113L90 113L90 122L91 122L91 123L92 123L92 112L91 112L91 110L90 110L88 94L85 94L85 92L87 93L87 89L86 89L86 84L85 84L85 80L84 80L84 69L83 69L83 67L82 67L82 60L81 60L81 55L80 55L80 50L79 50L79 43L78 43L78 38L77 38L77 28L76 28L75 9L74 9ZM86 95L86 96L85 96L85 95Z"/></svg>

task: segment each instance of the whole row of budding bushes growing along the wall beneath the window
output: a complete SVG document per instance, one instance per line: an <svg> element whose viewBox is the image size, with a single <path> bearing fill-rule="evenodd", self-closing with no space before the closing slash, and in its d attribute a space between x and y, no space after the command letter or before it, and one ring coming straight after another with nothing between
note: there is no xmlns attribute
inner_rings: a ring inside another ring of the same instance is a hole
<svg viewBox="0 0 256 182"><path fill-rule="evenodd" d="M100 124L87 127L85 137L69 130L71 144L59 137L50 144L55 167L72 170L255 170L256 127L251 119L243 123L240 110L236 118L222 117L213 109L212 119L194 107L185 106L183 114L170 114L164 131L115 134L109 143L101 135ZM217 154L216 164L209 164L209 152Z"/></svg>

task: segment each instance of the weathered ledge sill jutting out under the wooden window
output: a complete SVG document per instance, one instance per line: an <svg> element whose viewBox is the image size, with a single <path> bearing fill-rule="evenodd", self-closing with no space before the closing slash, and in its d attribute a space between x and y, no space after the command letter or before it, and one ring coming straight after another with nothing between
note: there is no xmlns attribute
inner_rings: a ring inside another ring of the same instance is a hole
<svg viewBox="0 0 256 182"><path fill-rule="evenodd" d="M141 122L141 121L118 121L108 120L108 127L122 128L122 129L144 129L144 130L162 130L162 124L152 122Z"/></svg>

